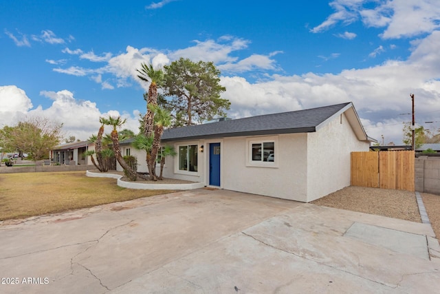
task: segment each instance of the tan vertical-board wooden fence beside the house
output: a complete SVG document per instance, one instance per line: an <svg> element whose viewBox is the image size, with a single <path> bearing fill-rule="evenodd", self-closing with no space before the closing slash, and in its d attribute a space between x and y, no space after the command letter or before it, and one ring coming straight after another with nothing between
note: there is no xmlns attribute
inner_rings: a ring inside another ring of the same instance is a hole
<svg viewBox="0 0 440 294"><path fill-rule="evenodd" d="M414 151L351 152L351 185L415 191Z"/></svg>

